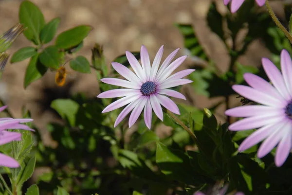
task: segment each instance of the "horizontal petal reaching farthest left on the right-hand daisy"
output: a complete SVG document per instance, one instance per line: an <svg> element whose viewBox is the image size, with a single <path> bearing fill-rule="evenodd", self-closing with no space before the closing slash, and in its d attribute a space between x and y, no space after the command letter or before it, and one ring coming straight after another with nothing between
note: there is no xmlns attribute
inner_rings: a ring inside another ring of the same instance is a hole
<svg viewBox="0 0 292 195"><path fill-rule="evenodd" d="M271 113L271 114L269 114ZM225 111L227 116L234 117L250 117L256 115L280 115L285 114L285 109L280 109L277 107L261 106L261 105L251 105L251 106L239 106L231 108Z"/></svg>

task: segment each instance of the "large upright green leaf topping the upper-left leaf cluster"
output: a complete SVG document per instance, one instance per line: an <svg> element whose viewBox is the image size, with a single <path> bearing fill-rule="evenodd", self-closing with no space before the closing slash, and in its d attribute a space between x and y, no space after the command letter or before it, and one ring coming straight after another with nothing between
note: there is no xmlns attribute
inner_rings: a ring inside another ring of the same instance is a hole
<svg viewBox="0 0 292 195"><path fill-rule="evenodd" d="M27 29L23 34L27 39L39 45L39 34L45 25L45 19L39 8L29 0L24 0L19 8L19 21Z"/></svg>

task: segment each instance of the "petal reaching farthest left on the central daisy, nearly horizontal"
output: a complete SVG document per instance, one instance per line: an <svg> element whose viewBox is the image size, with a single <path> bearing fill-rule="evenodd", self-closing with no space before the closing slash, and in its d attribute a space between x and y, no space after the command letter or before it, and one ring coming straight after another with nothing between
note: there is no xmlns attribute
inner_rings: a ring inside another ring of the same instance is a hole
<svg viewBox="0 0 292 195"><path fill-rule="evenodd" d="M98 98L116 98L116 97L125 97L128 95L138 95L141 93L138 89L112 89L100 93Z"/></svg>

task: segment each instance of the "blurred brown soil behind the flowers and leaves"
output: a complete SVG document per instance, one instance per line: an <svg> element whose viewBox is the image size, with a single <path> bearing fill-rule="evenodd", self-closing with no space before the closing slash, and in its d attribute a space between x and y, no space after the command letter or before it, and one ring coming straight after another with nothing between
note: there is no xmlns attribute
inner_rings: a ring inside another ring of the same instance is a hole
<svg viewBox="0 0 292 195"><path fill-rule="evenodd" d="M227 12L223 0L215 0L221 13ZM89 24L94 29L85 39L83 49L78 53L91 58L91 48L97 42L104 46L107 64L125 50L139 51L142 44L146 45L153 60L161 45L165 46L164 57L175 50L183 48L183 36L174 23L193 24L195 31L206 49L208 55L215 61L220 70L226 70L229 56L219 37L210 32L206 23L206 14L211 0L32 0L43 12L46 22L60 17L58 28L60 33L76 25ZM0 32L5 32L18 22L18 9L21 0L0 0ZM273 2L278 16L283 16L280 1ZM24 35L20 35L9 49L9 53L19 48L32 46ZM182 51L180 55L184 54ZM259 41L255 41L248 52L241 57L240 62L246 65L260 64L261 57L270 54ZM89 97L99 94L95 73L81 74L73 72L65 87L57 87L54 73L47 72L45 76L23 89L23 80L29 60L15 64L7 64L0 81L0 98L9 106L14 117L21 117L21 108L27 106L32 118L42 134L45 144L52 144L46 131L46 124L57 120L49 109L48 93L54 98L67 97L69 94L83 91ZM191 59L180 67L185 69L192 64ZM179 70L178 70L179 71ZM74 81L71 83L71 81ZM212 100L196 95L190 86L183 87L183 93L188 91L192 100L188 104L198 107L208 107L219 98ZM236 100L234 105L238 104ZM224 106L219 108L222 113ZM224 121L224 117L219 117ZM164 131L166 127L161 128Z"/></svg>

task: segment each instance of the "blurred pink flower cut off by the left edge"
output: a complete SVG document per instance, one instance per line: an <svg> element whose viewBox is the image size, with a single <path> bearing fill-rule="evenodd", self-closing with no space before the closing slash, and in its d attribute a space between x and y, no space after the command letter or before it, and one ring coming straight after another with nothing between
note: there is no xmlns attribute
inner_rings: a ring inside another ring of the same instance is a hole
<svg viewBox="0 0 292 195"><path fill-rule="evenodd" d="M0 107L0 112L3 111L7 106ZM0 118L0 145L9 143L12 141L20 141L21 133L6 131L6 129L23 129L34 131L25 124L33 121L32 119L12 119L12 118ZM18 161L0 153L0 166L5 166L9 168L19 167Z"/></svg>

